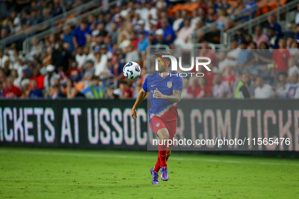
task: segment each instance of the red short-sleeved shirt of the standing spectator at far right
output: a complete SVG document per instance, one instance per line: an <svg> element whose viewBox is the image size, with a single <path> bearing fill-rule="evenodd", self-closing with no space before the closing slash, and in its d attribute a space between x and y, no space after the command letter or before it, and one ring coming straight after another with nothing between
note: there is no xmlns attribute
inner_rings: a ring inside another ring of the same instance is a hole
<svg viewBox="0 0 299 199"><path fill-rule="evenodd" d="M288 71L288 59L290 58L290 54L288 49L275 49L272 60L276 61L275 70Z"/></svg>

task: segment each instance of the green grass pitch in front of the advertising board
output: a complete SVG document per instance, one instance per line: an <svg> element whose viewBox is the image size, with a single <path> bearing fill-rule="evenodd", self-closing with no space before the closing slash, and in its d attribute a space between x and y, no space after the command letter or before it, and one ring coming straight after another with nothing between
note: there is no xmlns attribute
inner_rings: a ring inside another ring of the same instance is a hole
<svg viewBox="0 0 299 199"><path fill-rule="evenodd" d="M299 161L157 152L0 148L0 198L298 198Z"/></svg>

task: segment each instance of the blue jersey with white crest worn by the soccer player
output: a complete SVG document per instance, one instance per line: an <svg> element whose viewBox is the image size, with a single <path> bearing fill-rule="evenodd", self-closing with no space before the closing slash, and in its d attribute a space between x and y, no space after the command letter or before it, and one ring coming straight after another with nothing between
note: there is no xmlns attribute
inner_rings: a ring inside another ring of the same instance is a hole
<svg viewBox="0 0 299 199"><path fill-rule="evenodd" d="M178 119L177 103L166 100L156 99L153 94L156 88L164 95L172 95L173 90L183 90L182 77L177 72L170 72L165 78L162 78L158 72L147 76L144 81L143 89L150 92L151 109L148 111L149 118L154 115L161 117L165 121L173 121Z"/></svg>

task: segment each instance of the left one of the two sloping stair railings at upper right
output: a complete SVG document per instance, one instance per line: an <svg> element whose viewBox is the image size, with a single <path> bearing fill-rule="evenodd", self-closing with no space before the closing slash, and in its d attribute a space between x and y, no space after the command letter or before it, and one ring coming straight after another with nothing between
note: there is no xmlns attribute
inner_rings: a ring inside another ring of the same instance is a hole
<svg viewBox="0 0 299 199"><path fill-rule="evenodd" d="M254 7L255 9L253 9L253 12L257 12L258 10L263 9L264 7L268 7L268 3L270 1L271 0L262 0L262 1L258 2L257 6ZM279 6L279 4L278 4L278 6ZM248 21L251 21L252 19L254 19L254 16L252 14L252 10L244 8L243 10L234 12L234 13L226 16L225 18L221 19L221 20L218 20L218 21L213 22L209 25L205 25L204 27L201 27L197 30L194 30L194 32L200 32L201 34L205 35L205 34L208 34L210 32L213 32L215 30L220 31L220 43L223 43L224 26L220 27L220 22L224 22L224 23L227 23L229 21L235 21L236 22L236 21L240 20L242 17L244 17L244 14L248 15L248 18L249 18ZM190 43L194 42L193 36L194 36L194 34L189 36L189 42Z"/></svg>

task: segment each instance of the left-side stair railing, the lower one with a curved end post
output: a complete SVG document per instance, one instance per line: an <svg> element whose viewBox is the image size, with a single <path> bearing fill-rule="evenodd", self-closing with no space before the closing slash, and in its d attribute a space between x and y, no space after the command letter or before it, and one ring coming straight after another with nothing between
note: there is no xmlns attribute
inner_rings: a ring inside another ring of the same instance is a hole
<svg viewBox="0 0 299 199"><path fill-rule="evenodd" d="M23 41L23 52L26 52L26 54L30 53L30 48L31 48L31 40L33 38L37 38L38 40L41 40L41 39L44 39L45 36L49 35L49 34L56 34L57 32L60 32L62 31L62 28L66 25L75 25L78 23L78 20L81 20L83 18L86 18L88 17L89 15L92 15L92 14L99 14L101 11L105 11L107 9L109 9L109 7L117 4L118 1L113 1L105 6L101 6L95 10L92 10L86 14L83 14L83 15L79 15L79 16L76 16L74 17L72 20L68 20L66 22L64 22L63 24L61 25L58 25L58 26L55 26L53 28L50 28L46 31L43 31L43 32L40 32L36 35L33 35L33 36L30 36L28 38L26 38L24 41Z"/></svg>

